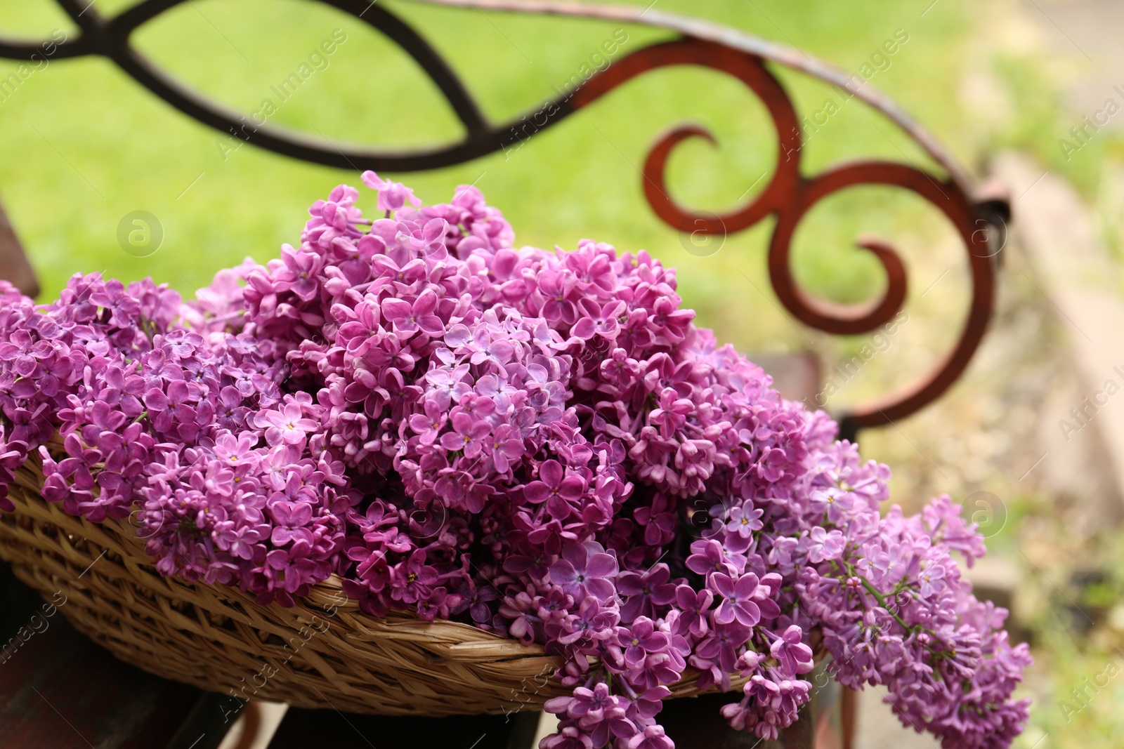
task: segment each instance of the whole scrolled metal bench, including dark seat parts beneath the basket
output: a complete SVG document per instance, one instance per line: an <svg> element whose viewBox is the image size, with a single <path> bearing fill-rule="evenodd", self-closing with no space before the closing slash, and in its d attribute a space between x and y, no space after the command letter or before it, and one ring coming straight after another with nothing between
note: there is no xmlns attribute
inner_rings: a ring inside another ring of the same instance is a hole
<svg viewBox="0 0 1124 749"><path fill-rule="evenodd" d="M963 373L984 337L991 317L996 270L1003 248L1006 225L1010 218L1008 202L997 192L978 192L971 180L950 155L918 124L898 109L890 100L873 90L861 76L846 73L825 63L809 58L795 49L750 36L716 24L688 19L661 12L649 6L633 7L584 6L573 2L545 0L416 0L451 8L480 11L552 15L570 18L613 20L664 29L667 40L631 52L608 67L593 72L577 83L564 97L546 102L535 111L509 122L490 122L472 99L455 71L408 24L378 2L369 0L319 0L370 25L396 42L433 80L464 126L462 139L432 148L408 152L372 150L337 147L327 139L312 139L271 125L245 127L242 115L228 111L199 94L182 88L129 44L130 34L143 22L184 0L144 0L114 17L103 17L85 0L57 0L58 4L78 25L80 34L57 45L55 58L101 55L114 61L121 70L157 97L184 115L208 125L224 135L233 135L245 143L278 154L324 164L342 170L375 170L380 172L416 172L461 164L481 156L507 152L529 143L535 135L577 115L598 99L645 72L673 65L698 65L722 71L742 81L765 106L777 133L779 154L774 173L765 189L746 205L725 214L696 212L677 204L668 195L664 170L669 155L689 138L714 140L709 133L697 126L677 127L652 146L643 166L642 189L655 214L669 226L690 234L725 235L742 231L767 217L774 217L776 225L769 243L768 268L772 289L780 303L795 319L832 335L870 332L890 321L900 310L906 298L906 268L895 249L885 241L861 239L859 247L872 253L886 273L886 291L880 299L858 305L839 305L817 299L800 289L792 274L790 246L794 232L803 217L818 201L840 190L854 185L891 185L910 191L928 201L955 227L967 250L971 274L971 301L964 326L950 353L926 375L899 392L887 394L871 403L836 413L842 436L855 439L861 429L878 427L903 419L944 393ZM654 3L652 3L654 6ZM39 51L37 43L17 43L0 38L0 57L30 60ZM939 165L943 174L922 170L910 163L863 161L830 167L819 174L808 175L801 170L800 118L785 86L772 73L781 66L798 71L836 86L847 98L862 101L899 127ZM858 79L858 83L855 82ZM11 235L0 213L0 277L7 277L26 293L36 293L37 285L22 250ZM788 398L810 398L818 390L819 372L815 360L807 356L772 357L762 360L767 371L774 374L782 393ZM0 578L0 595L16 596L20 604L11 614L0 619L0 634L21 627L28 612L34 613L36 602L28 600L19 585ZM0 610L3 613L7 610ZM83 645L76 633L66 628L61 618L51 630L33 639L19 669L0 667L0 747L70 746L82 721L80 695L71 687L57 692L67 709L47 710L31 705L28 688L51 684L51 679L73 669L85 674L82 688L94 686L99 693L119 695L123 704L146 705L121 718L116 724L103 727L82 722L90 741L97 737L99 747L167 746L206 749L221 739L224 725L216 725L215 716L221 712L216 698L208 701L174 684L140 674L132 667L112 665L96 646ZM45 652L55 657L46 658ZM66 660L57 654L74 654ZM67 665L71 664L71 665ZM54 692L52 694L55 694ZM19 700L10 695L19 696ZM44 697L44 695L39 695ZM7 698L6 698L7 697ZM682 749L707 747L758 747L754 737L729 730L718 716L716 705L724 695L698 700L671 701L661 720L669 736ZM44 697L40 702L47 702ZM29 704L26 711L16 705ZM146 712L147 711L147 712ZM813 705L805 716L787 731L777 746L818 749L849 749L854 729L853 695L843 691L843 697L827 701L826 706ZM18 715L17 715L18 713ZM115 713L116 714L116 713ZM18 718L18 731L9 730L9 720ZM428 747L450 746L450 737L465 748L526 749L534 736L537 714L525 712L511 716L451 718L439 720L391 719L357 715L316 713L293 710L287 715L273 743L275 749L308 746L309 741L335 747ZM102 721L105 723L105 721ZM110 721L111 722L111 721ZM173 730L174 728L174 730ZM106 730L108 733L102 733ZM117 733L114 733L117 731ZM248 733L252 733L248 732ZM47 737L51 737L49 739ZM106 738L102 738L106 737ZM480 737L475 739L474 737ZM193 745L182 741L192 739ZM463 741L462 741L463 740ZM472 745L475 740L477 743ZM428 743L426 743L428 741ZM74 743L84 746L87 742ZM768 743L760 743L765 749Z"/></svg>

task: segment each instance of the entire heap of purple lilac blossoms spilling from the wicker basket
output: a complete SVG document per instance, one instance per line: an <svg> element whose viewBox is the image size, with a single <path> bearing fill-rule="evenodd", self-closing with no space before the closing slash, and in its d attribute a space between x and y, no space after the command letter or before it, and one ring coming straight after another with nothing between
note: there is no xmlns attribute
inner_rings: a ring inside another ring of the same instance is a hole
<svg viewBox="0 0 1124 749"><path fill-rule="evenodd" d="M948 497L881 517L888 469L697 328L646 253L516 248L474 188L422 207L363 181L381 218L341 185L299 247L191 303L0 287L0 485L38 448L44 497L135 513L163 574L282 604L337 574L371 615L543 643L573 688L543 749L671 749L688 672L776 737L814 634L945 747L1010 743L1030 656L952 560L984 547Z"/></svg>

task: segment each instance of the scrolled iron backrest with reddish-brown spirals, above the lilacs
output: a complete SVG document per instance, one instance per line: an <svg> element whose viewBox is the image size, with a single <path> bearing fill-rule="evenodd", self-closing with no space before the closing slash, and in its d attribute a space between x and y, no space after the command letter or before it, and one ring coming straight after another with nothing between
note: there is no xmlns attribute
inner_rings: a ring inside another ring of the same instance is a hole
<svg viewBox="0 0 1124 749"><path fill-rule="evenodd" d="M433 148L378 150L325 143L309 136L261 125L247 131L243 115L208 101L160 71L129 43L132 34L160 13L185 0L143 0L114 17L103 17L88 0L57 0L78 26L76 37L55 45L52 57L101 55L114 61L138 83L183 113L224 134L233 134L255 146L306 162L347 170L415 172L461 164L507 149L525 138L553 127L593 101L647 71L671 65L695 65L722 71L745 84L762 101L776 127L778 158L765 189L749 204L723 216L690 211L668 197L664 168L677 145L688 138L714 137L696 126L680 126L661 136L643 168L645 198L656 216L681 231L736 232L774 216L768 265L773 291L785 308L805 325L833 335L872 331L891 320L906 298L905 265L890 245L874 239L858 241L872 253L886 273L881 299L840 305L801 290L794 278L791 241L797 226L813 205L827 195L855 185L903 188L940 210L960 234L971 273L971 302L960 337L942 362L918 381L874 402L836 414L844 437L859 429L895 421L936 400L963 373L991 317L996 266L1003 247L1009 204L998 197L977 198L971 182L936 140L869 84L852 89L842 71L796 52L728 27L647 9L587 6L547 0L402 0L481 11L537 13L613 20L667 29L672 38L633 52L595 73L565 98L549 101L534 112L504 125L495 125L462 83L456 72L426 39L381 2L370 0L310 0L332 6L364 21L397 43L433 80L464 127L457 141ZM0 37L0 57L33 60L43 43ZM783 65L845 89L891 120L913 138L944 175L913 164L862 161L827 168L814 176L800 170L803 139L795 107L769 64ZM529 129L528 133L528 119Z"/></svg>

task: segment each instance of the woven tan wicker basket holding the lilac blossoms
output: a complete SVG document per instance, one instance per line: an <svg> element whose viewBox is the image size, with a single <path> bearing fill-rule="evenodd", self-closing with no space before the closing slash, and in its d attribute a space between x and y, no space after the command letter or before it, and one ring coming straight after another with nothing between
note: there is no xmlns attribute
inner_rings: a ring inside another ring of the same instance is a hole
<svg viewBox="0 0 1124 749"><path fill-rule="evenodd" d="M383 715L537 709L566 692L558 659L468 624L375 619L335 577L292 609L221 585L163 577L127 521L91 523L39 495L33 455L0 513L0 557L115 656L157 676L239 697ZM57 599L56 599L57 600ZM689 674L674 696L697 694Z"/></svg>

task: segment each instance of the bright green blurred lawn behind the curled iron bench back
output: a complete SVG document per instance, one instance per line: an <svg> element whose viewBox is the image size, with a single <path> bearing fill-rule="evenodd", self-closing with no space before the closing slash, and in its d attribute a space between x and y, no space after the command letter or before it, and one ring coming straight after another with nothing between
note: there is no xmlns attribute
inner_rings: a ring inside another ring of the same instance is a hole
<svg viewBox="0 0 1124 749"><path fill-rule="evenodd" d="M129 4L101 0L96 8L110 13ZM927 4L662 0L659 8L794 44L852 71L896 29L905 29L908 43L872 84L971 162L976 154L966 150L970 128L955 104L955 81L967 64L958 51L970 35L969 6L945 0L921 18ZM587 20L486 17L402 0L387 0L386 7L447 56L493 120L534 109L617 28ZM0 19L8 34L43 36L54 28L73 34L47 0L0 0ZM337 28L347 40L326 70L280 104L272 124L333 143L382 147L424 147L459 137L457 120L411 60L365 25L319 3L197 0L151 21L135 42L185 85L253 112L263 98L275 98L270 86ZM626 30L622 54L668 36ZM0 75L15 68L4 62ZM828 86L788 71L778 75L800 112L821 108L833 95ZM669 177L678 200L718 211L761 190L764 180L743 198L777 158L763 106L740 82L694 67L647 73L507 158L499 154L395 176L426 201L447 200L457 184L475 182L505 210L520 243L573 247L592 237L620 249L646 248L679 268L687 303L724 339L755 350L807 345L809 339L773 304L764 270L769 221L731 236L717 254L697 257L645 203L636 167L661 130L685 120L709 127L719 145L688 143L673 155ZM359 183L353 172L248 146L224 158L228 141L221 134L172 110L102 58L55 61L33 74L0 103L0 197L40 275L44 299L56 295L76 271L125 280L152 275L191 293L217 268L246 255L275 256L281 243L297 239L308 204L338 182ZM908 139L855 101L808 143L805 170L815 173L860 157L925 163ZM118 246L118 222L134 210L151 211L163 225L163 246L149 257L133 257ZM880 293L880 267L851 246L872 229L923 262L930 262L931 246L948 244L951 236L934 210L899 191L847 191L817 207L801 225L798 278L809 291L841 302ZM943 257L933 262L959 261L954 248ZM917 278L914 294L939 272Z"/></svg>

